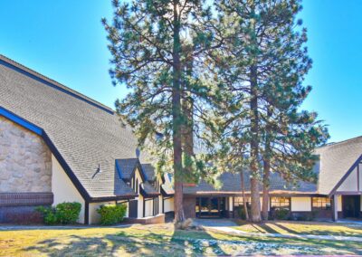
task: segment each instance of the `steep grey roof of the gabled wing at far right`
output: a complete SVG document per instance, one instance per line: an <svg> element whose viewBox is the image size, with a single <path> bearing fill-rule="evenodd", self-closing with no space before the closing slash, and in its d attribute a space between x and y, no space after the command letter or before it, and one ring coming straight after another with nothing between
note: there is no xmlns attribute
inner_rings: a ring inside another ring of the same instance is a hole
<svg viewBox="0 0 362 257"><path fill-rule="evenodd" d="M317 148L316 153L320 157L319 194L329 195L362 155L362 137Z"/></svg>

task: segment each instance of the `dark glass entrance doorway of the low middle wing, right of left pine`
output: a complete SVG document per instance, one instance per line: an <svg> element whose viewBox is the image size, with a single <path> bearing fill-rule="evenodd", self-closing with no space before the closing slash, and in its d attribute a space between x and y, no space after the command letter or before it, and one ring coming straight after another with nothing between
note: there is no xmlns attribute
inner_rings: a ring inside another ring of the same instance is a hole
<svg viewBox="0 0 362 257"><path fill-rule="evenodd" d="M196 217L222 218L225 215L225 197L197 197Z"/></svg>

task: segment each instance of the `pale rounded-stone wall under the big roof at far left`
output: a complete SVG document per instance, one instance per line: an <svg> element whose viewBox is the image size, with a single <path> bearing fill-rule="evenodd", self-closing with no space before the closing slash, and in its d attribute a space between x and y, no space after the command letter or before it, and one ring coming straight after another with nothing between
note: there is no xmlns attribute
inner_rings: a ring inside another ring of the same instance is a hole
<svg viewBox="0 0 362 257"><path fill-rule="evenodd" d="M43 138L0 116L0 193L52 192L52 154Z"/></svg>

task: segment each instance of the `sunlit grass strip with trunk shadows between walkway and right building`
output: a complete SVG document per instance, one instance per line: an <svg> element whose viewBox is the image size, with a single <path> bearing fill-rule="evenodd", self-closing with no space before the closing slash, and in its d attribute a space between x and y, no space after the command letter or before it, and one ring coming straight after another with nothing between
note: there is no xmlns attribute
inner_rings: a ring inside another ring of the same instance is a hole
<svg viewBox="0 0 362 257"><path fill-rule="evenodd" d="M281 233L281 234L316 234L316 235L343 235L362 237L362 225L332 224L318 222L267 222L264 224L239 223L235 229L251 233Z"/></svg>

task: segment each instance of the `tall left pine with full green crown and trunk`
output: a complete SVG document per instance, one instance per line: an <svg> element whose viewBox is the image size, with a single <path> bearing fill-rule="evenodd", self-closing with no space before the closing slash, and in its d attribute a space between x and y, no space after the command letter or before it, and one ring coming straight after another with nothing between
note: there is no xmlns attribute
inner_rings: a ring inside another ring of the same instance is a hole
<svg viewBox="0 0 362 257"><path fill-rule="evenodd" d="M186 165L205 167L195 161L192 139L205 139L207 124L200 123L207 120L203 103L207 105L211 91L202 82L209 78L195 73L203 70L205 52L221 45L213 44L211 9L202 0L135 0L122 5L114 0L113 7L111 23L102 21L112 54L110 75L114 84L130 89L116 108L135 129L139 144L151 146L157 169L171 164L175 217L182 222L183 183L197 175Z"/></svg>

